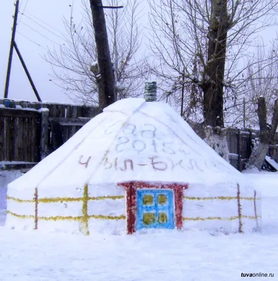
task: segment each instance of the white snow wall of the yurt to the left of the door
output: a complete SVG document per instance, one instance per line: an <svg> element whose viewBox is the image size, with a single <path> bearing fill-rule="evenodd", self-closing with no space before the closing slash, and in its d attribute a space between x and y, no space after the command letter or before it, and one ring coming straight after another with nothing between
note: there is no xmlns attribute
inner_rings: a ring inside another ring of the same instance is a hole
<svg viewBox="0 0 278 281"><path fill-rule="evenodd" d="M64 192L61 192L61 191ZM8 190L6 226L69 233L126 233L126 192L113 184ZM66 194L65 194L66 191Z"/></svg>

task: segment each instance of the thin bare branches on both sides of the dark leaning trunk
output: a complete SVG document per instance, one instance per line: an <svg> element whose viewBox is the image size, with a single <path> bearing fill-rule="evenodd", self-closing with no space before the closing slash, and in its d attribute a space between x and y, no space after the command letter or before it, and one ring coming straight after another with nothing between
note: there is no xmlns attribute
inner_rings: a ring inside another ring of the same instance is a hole
<svg viewBox="0 0 278 281"><path fill-rule="evenodd" d="M70 98L98 106L101 99L100 70L92 14L88 1L82 0L82 5L81 22L74 22L72 6L69 20L64 19L65 42L48 51L46 60L53 68L52 80L65 89ZM119 6L119 0L109 0L107 5ZM118 99L139 96L143 90L143 59L138 59L141 44L138 5L138 0L127 0L124 9L105 9Z"/></svg>

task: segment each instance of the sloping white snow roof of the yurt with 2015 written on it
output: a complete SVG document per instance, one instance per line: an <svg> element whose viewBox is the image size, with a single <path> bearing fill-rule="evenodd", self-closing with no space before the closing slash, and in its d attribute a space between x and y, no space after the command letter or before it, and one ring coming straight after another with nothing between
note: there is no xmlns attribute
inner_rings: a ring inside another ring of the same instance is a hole
<svg viewBox="0 0 278 281"><path fill-rule="evenodd" d="M121 181L211 185L242 180L239 171L206 145L169 105L128 98L105 108L9 186L78 188L85 183Z"/></svg>

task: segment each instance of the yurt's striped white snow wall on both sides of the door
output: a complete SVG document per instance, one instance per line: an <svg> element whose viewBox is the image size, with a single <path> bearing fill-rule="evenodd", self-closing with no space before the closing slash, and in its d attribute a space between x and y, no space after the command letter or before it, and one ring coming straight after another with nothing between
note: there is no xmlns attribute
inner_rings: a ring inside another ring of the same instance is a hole
<svg viewBox="0 0 278 281"><path fill-rule="evenodd" d="M224 188L223 188L224 187ZM51 190L51 194L50 194ZM6 226L69 233L126 234L126 190L117 185L8 192ZM84 204L86 203L86 204ZM260 229L260 193L236 183L183 190L183 229L227 233Z"/></svg>

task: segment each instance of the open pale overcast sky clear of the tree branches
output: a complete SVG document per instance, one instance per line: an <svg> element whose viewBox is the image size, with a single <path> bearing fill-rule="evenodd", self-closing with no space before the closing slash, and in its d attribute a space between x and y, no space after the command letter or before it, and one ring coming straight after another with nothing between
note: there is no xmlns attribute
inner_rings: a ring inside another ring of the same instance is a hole
<svg viewBox="0 0 278 281"><path fill-rule="evenodd" d="M81 11L78 9L77 5L79 2L79 0L75 1L75 22L78 22L79 18L81 20ZM18 48L22 53L42 100L72 103L72 101L65 95L64 90L49 81L49 79L51 79L49 74L52 73L51 66L46 63L44 58L41 58L47 53L47 48L53 48L53 46L58 46L58 44L62 43L62 39L59 37L62 33L65 33L62 18L69 18L70 4L72 4L72 0L20 0L20 14L18 17L15 41L18 44ZM11 27L13 25L14 10L15 6L13 0L4 0L4 3L1 3L1 96L4 96L6 68L11 41ZM24 15L22 15L22 13L24 13ZM49 31L40 25L43 25ZM275 32L276 29L274 27L265 31L262 34L265 42L270 40L272 37L275 37ZM13 65L8 98L36 100L15 51L13 53Z"/></svg>

